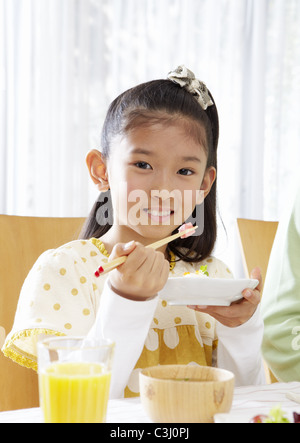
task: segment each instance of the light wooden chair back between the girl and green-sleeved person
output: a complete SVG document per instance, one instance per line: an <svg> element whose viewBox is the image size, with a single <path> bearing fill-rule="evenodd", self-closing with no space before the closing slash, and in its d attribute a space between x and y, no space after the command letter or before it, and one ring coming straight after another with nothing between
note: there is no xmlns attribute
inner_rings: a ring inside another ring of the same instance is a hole
<svg viewBox="0 0 300 443"><path fill-rule="evenodd" d="M249 277L252 269L259 266L264 285L278 222L238 218L237 225L245 274ZM266 375L269 383L278 381L267 367Z"/></svg>

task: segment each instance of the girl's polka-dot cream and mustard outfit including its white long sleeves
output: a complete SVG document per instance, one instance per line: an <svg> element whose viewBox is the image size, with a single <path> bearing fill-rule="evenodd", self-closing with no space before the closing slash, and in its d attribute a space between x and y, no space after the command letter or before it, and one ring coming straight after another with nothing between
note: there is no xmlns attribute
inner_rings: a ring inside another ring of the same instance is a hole
<svg viewBox="0 0 300 443"><path fill-rule="evenodd" d="M93 241L76 240L42 254L24 282L14 326L3 346L7 357L37 369L36 337L41 333L111 338L117 344L112 377L112 396L116 398L124 395L125 388L138 395L138 371L134 368L140 357L144 358L141 365L196 360L204 364L203 345L212 350L217 333L218 365L235 372L238 385L262 382L262 322L258 313L243 326L230 329L217 325L216 331L215 321L207 314L169 306L162 298L124 299L105 283L107 276L94 276L99 263L107 259L98 246ZM232 276L214 257L202 264L211 278ZM171 276L197 272L199 266L179 261ZM183 333L186 330L189 334Z"/></svg>

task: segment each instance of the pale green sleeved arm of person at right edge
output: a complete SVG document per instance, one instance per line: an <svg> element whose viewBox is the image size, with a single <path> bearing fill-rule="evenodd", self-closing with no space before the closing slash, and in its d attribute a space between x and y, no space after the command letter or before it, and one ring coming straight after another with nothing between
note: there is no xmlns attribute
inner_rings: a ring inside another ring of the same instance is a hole
<svg viewBox="0 0 300 443"><path fill-rule="evenodd" d="M280 222L262 297L263 356L279 381L300 381L300 192Z"/></svg>

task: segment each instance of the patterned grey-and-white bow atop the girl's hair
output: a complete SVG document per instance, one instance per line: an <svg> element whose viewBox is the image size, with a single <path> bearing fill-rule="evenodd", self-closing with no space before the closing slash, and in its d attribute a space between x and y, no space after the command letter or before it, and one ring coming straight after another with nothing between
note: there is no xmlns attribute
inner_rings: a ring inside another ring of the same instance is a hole
<svg viewBox="0 0 300 443"><path fill-rule="evenodd" d="M193 94L204 111L209 106L214 105L206 85L196 79L195 74L184 65L178 66L175 71L169 72L168 79Z"/></svg>

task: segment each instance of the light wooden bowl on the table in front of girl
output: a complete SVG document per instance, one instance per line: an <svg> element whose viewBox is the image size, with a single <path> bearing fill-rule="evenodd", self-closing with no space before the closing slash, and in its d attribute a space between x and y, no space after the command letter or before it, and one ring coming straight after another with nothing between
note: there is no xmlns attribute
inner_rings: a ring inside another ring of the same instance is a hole
<svg viewBox="0 0 300 443"><path fill-rule="evenodd" d="M162 365L140 372L142 405L155 423L213 423L229 412L234 375L196 365Z"/></svg>

